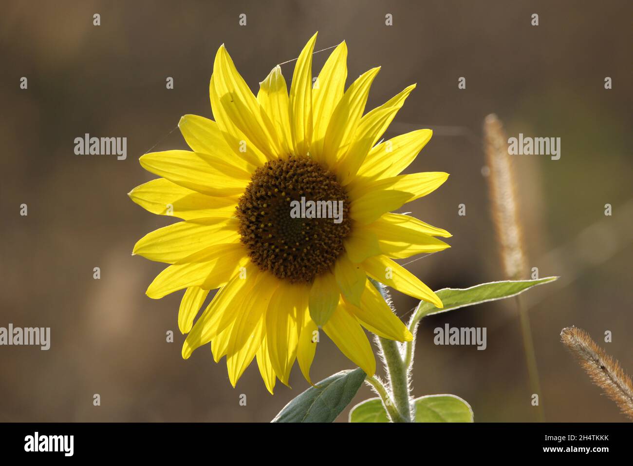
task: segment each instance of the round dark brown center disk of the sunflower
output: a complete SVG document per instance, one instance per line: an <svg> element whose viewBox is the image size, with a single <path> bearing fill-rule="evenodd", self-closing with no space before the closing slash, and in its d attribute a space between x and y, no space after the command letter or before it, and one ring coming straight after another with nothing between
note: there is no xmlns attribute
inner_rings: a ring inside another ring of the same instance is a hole
<svg viewBox="0 0 633 466"><path fill-rule="evenodd" d="M311 282L334 265L349 233L348 212L334 173L308 157L266 162L237 205L251 261L290 282Z"/></svg>

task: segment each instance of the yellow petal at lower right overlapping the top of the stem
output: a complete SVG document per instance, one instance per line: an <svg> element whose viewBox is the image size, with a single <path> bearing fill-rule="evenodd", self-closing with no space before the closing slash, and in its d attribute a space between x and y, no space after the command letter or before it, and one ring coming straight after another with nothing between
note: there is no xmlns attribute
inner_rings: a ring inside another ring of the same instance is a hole
<svg viewBox="0 0 633 466"><path fill-rule="evenodd" d="M396 341L411 341L413 335L406 325L393 313L380 292L370 283L365 285L361 306L344 302L343 306L370 332Z"/></svg>

